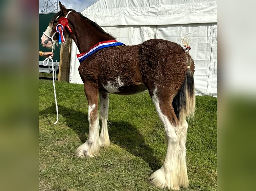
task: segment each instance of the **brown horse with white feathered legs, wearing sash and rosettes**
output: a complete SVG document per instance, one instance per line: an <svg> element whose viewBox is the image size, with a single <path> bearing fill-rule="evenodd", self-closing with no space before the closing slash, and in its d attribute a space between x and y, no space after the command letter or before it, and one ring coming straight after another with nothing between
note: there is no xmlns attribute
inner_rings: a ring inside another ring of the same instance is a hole
<svg viewBox="0 0 256 191"><path fill-rule="evenodd" d="M107 126L110 93L129 95L148 90L168 144L163 165L148 180L163 189L188 188L186 119L195 110L195 66L191 56L181 45L162 39L124 45L81 13L66 9L60 1L59 6L60 11L50 21L41 43L51 48L71 38L81 53L77 55L78 70L88 101L89 133L86 142L76 149L76 156L96 157L100 147L110 146Z"/></svg>

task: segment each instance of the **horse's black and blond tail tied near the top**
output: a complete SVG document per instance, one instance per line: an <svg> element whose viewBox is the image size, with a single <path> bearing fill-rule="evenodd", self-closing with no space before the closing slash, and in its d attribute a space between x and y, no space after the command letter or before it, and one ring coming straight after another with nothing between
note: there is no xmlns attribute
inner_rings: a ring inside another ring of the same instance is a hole
<svg viewBox="0 0 256 191"><path fill-rule="evenodd" d="M175 114L179 121L186 119L186 117L193 117L195 111L194 62L189 54L185 53L185 56L187 59L186 77L172 101Z"/></svg>

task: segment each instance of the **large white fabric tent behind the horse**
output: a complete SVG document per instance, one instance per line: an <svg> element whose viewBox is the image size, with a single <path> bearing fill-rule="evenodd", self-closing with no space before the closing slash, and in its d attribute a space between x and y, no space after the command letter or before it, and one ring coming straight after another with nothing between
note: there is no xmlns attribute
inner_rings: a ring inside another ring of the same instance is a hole
<svg viewBox="0 0 256 191"><path fill-rule="evenodd" d="M126 45L160 38L190 39L196 95L217 97L217 2L212 0L99 0L81 12ZM83 83L72 42L70 83Z"/></svg>

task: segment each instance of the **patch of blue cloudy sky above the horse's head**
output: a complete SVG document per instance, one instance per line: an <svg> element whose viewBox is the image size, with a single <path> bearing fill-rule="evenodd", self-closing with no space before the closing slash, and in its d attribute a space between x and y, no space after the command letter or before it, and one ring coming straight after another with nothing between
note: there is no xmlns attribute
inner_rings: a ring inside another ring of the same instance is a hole
<svg viewBox="0 0 256 191"><path fill-rule="evenodd" d="M47 2L47 0L45 0ZM61 0L61 4L64 5L68 9L74 9L77 12L83 11L85 8L89 7L93 3L98 0ZM51 0L53 3L54 1ZM39 0L39 13L41 13L43 8L44 0ZM51 8L52 9L52 8ZM58 3L58 10L59 10L59 3Z"/></svg>

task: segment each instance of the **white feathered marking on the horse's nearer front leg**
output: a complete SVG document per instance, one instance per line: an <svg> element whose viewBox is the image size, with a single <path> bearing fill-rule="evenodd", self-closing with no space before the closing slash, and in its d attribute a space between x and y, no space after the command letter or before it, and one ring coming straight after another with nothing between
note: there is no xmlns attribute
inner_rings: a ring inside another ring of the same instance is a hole
<svg viewBox="0 0 256 191"><path fill-rule="evenodd" d="M80 145L75 154L78 157L94 157L100 155L100 143L99 143L99 115L97 111L97 119L92 121L90 118L91 112L95 109L95 104L88 106L88 121L89 121L89 133L86 142Z"/></svg>

